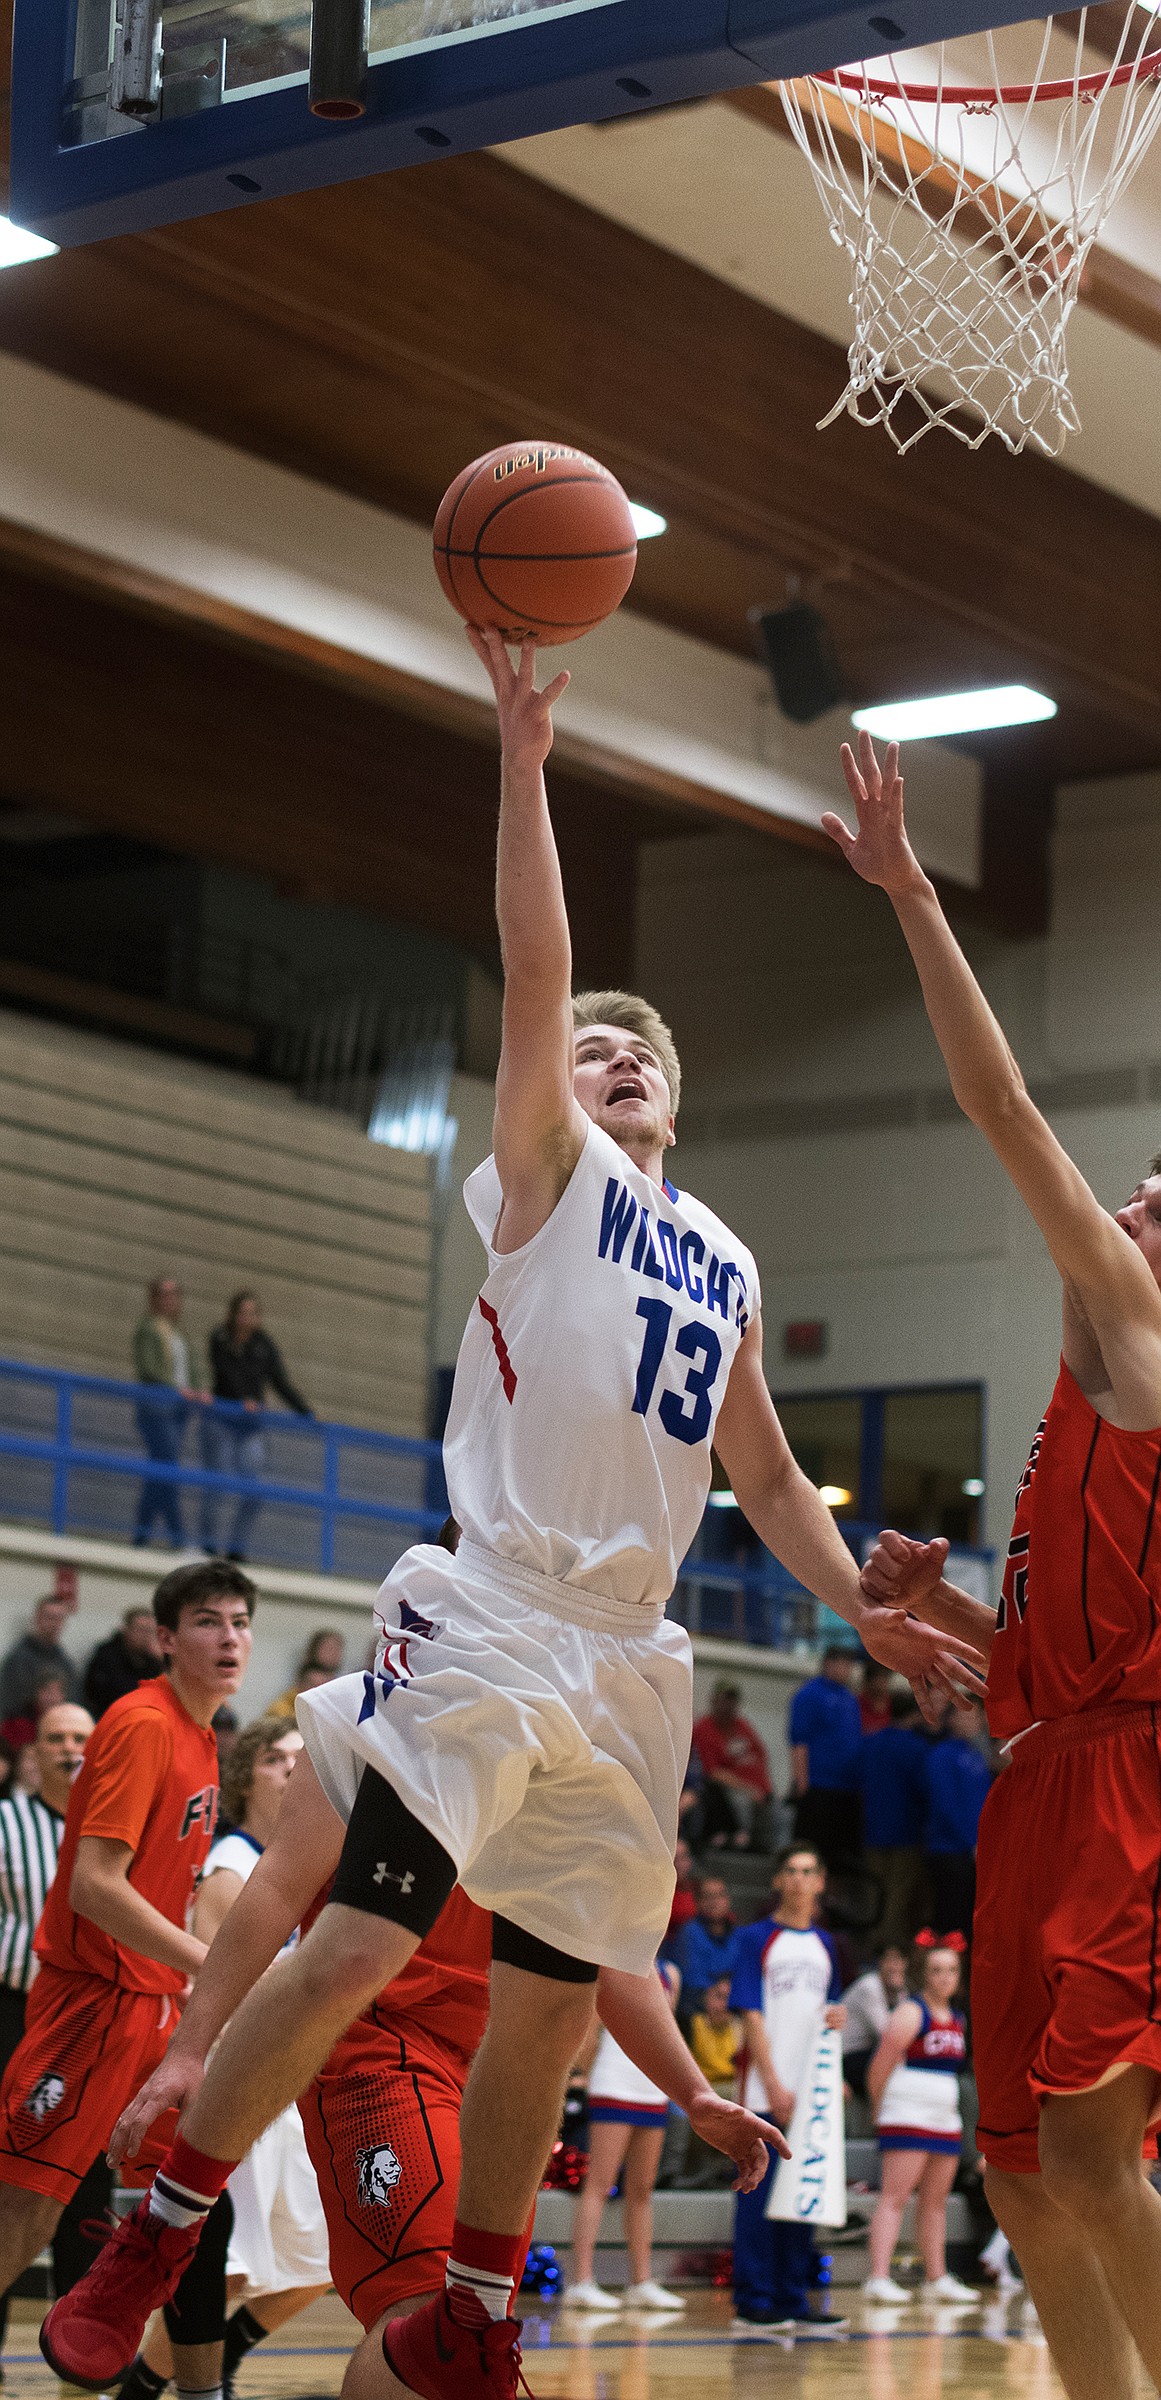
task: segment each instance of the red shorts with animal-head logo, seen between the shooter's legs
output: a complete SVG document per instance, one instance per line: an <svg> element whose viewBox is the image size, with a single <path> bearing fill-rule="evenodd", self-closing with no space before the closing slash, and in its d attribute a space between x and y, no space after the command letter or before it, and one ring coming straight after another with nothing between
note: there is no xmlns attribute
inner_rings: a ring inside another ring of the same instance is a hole
<svg viewBox="0 0 1161 2400"><path fill-rule="evenodd" d="M312 1915L319 1906L321 1896ZM487 2026L489 1963L492 1918L456 1886L410 1966L343 2033L297 2102L331 2275L367 2328L444 2282L461 2100Z"/></svg>

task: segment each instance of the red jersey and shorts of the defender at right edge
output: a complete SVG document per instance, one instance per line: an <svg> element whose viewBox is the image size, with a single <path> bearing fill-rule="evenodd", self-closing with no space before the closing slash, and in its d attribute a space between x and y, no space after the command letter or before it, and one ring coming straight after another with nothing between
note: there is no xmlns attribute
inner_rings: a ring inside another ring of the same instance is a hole
<svg viewBox="0 0 1161 2400"><path fill-rule="evenodd" d="M1108 1426L1060 1366L988 1670L991 1730L1019 1740L979 1826L976 2138L1012 2174L1039 2167L1041 2093L1161 2074L1159 1488L1161 1433Z"/></svg>

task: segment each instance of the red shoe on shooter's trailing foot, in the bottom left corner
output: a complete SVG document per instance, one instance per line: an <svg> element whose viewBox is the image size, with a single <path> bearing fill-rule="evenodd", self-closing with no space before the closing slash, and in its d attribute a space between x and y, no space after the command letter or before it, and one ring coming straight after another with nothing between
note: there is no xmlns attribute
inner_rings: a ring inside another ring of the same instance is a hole
<svg viewBox="0 0 1161 2400"><path fill-rule="evenodd" d="M101 2393L120 2381L142 2347L154 2309L178 2290L201 2222L163 2225L149 2215L149 2194L132 2218L122 2218L89 2273L72 2292L62 2292L41 2326L41 2350L62 2383Z"/></svg>

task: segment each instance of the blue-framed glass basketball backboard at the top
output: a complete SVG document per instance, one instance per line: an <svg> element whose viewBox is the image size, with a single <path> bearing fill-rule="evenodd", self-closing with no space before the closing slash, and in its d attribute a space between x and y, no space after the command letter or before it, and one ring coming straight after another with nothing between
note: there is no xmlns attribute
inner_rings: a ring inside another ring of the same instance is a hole
<svg viewBox="0 0 1161 2400"><path fill-rule="evenodd" d="M118 22L161 19L154 94ZM17 0L12 197L77 245L1027 14L1019 0L372 0L367 113L307 106L309 0Z"/></svg>

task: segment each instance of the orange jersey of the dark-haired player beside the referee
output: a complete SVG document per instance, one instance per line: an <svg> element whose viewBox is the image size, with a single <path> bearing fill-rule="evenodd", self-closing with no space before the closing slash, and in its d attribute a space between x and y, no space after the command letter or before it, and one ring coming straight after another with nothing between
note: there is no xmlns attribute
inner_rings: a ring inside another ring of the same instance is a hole
<svg viewBox="0 0 1161 2400"><path fill-rule="evenodd" d="M91 1918L70 1908L82 1836L125 1841L134 1853L130 1884L170 1925L185 1925L218 1812L218 1747L168 1675L115 1699L89 1738L70 1793L55 1884L36 1932L36 1956L77 1975L103 1975L125 1992L180 1992L185 1975L122 1949Z"/></svg>

